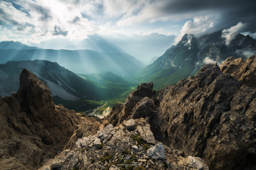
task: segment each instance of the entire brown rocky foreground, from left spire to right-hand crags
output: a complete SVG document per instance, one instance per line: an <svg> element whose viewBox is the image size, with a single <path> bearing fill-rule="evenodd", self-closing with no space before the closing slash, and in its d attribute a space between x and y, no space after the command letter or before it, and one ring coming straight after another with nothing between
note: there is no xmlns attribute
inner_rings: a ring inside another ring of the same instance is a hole
<svg viewBox="0 0 256 170"><path fill-rule="evenodd" d="M0 169L254 170L255 61L206 64L159 96L142 83L104 120L55 106L24 69L0 97Z"/></svg>

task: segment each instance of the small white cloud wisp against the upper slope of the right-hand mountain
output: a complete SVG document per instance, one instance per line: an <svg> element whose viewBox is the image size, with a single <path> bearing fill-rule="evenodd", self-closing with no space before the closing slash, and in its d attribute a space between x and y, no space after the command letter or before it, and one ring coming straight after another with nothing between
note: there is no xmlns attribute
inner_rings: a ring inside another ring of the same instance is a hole
<svg viewBox="0 0 256 170"><path fill-rule="evenodd" d="M222 30L221 37L225 39L225 44L229 45L230 42L235 38L236 35L243 32L247 24L242 22L237 23L237 25L230 27L229 29Z"/></svg>

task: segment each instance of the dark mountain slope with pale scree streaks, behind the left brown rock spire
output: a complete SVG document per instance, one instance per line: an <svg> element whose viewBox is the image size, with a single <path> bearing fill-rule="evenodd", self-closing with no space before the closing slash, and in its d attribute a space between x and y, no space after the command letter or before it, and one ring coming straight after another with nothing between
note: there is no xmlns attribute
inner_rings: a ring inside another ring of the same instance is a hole
<svg viewBox="0 0 256 170"><path fill-rule="evenodd" d="M113 72L77 75L56 62L46 60L8 61L5 64L0 64L1 96L10 96L17 92L19 75L23 68L31 70L48 85L54 102L59 104L69 101L63 105L71 109L77 108L76 105L88 104L88 100L102 101L114 98L129 90L129 86L132 85L130 81ZM73 107L70 107L68 103L74 100L77 103L73 103ZM83 110L82 107L79 108ZM84 106L85 108L88 107Z"/></svg>

